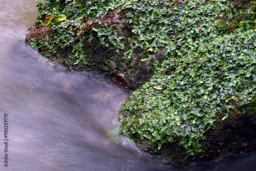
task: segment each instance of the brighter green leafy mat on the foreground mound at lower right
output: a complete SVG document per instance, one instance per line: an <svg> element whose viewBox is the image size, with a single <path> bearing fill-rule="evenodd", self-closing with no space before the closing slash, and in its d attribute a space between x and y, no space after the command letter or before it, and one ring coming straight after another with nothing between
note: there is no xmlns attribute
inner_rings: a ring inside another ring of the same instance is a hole
<svg viewBox="0 0 256 171"><path fill-rule="evenodd" d="M159 148L164 142L182 137L183 147L189 151L193 145L196 149L201 145L198 140L205 138L205 130L214 128L217 114L226 114L225 119L232 113L230 100L237 106L253 102L255 36L255 31L249 30L219 37L205 48L198 44L186 47L187 51L182 48L186 54L164 61L151 81L125 102L122 111L131 114L121 116L122 132L127 136L138 132L153 142L160 140ZM166 69L175 72L165 75ZM153 86L166 87L157 90ZM244 112L255 112L255 103ZM131 127L129 131L127 126Z"/></svg>

